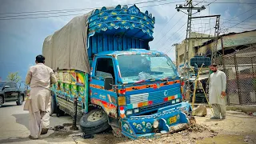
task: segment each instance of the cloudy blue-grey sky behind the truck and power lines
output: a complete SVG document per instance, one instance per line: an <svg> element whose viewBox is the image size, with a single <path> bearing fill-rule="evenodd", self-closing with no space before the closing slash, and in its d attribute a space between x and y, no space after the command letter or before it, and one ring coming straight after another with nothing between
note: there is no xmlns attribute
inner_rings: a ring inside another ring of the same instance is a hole
<svg viewBox="0 0 256 144"><path fill-rule="evenodd" d="M138 2L143 2L137 4L142 12L148 10L156 18L154 40L150 42L150 49L165 52L175 61L174 46L172 45L182 42L186 37L187 20L186 14L181 11L177 12L175 6L176 4L184 4L185 1L1 0L0 78L6 80L8 73L18 71L22 80L24 80L27 70L34 65L35 57L42 54L44 39L53 34L54 31L61 29L76 15L89 12L81 9ZM207 6L209 2L213 3ZM222 34L255 29L256 2L254 0L198 0L193 3L194 5L198 4L197 6L206 6L206 10L202 10L194 16L221 14ZM204 34L214 34L214 22L214 18L196 19L192 21L192 30Z"/></svg>

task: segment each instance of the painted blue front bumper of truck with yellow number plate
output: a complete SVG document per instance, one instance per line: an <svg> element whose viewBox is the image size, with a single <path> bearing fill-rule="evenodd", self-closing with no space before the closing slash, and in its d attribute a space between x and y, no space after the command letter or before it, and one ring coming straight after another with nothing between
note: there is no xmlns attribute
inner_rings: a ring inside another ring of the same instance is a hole
<svg viewBox="0 0 256 144"><path fill-rule="evenodd" d="M122 134L128 138L136 139L141 137L154 137L156 132L165 134L174 127L186 126L190 124L186 113L191 110L188 102L181 102L172 106L158 109L156 114L131 116L121 120ZM154 122L158 121L157 127Z"/></svg>

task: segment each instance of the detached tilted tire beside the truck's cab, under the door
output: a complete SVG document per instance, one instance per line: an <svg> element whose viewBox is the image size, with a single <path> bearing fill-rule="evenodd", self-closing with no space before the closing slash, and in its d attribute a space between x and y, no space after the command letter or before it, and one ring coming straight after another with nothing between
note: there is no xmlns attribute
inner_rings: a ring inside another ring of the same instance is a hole
<svg viewBox="0 0 256 144"><path fill-rule="evenodd" d="M100 109L91 110L84 114L79 124L85 134L97 134L110 127L106 113Z"/></svg>

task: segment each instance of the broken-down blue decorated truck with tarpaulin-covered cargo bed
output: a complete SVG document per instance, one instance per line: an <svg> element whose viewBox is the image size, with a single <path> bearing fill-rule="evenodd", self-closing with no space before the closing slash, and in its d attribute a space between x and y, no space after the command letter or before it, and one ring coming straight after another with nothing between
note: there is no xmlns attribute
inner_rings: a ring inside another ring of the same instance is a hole
<svg viewBox="0 0 256 144"><path fill-rule="evenodd" d="M155 18L137 6L102 7L45 39L46 66L57 75L52 113L74 115L85 134L154 137L190 125L181 78L171 59L150 50Z"/></svg>

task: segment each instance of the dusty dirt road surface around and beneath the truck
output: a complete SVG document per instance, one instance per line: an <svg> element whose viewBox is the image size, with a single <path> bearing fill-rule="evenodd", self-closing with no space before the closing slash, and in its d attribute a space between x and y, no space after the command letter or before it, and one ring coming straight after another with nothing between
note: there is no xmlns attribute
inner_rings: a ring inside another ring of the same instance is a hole
<svg viewBox="0 0 256 144"><path fill-rule="evenodd" d="M28 113L15 102L7 103L0 108L0 143L256 143L256 117L241 112L228 111L225 120L210 120L210 110L206 117L196 117L197 126L175 134L162 135L160 138L130 140L115 138L111 130L95 134L92 139L83 139L79 131L50 130L40 140L28 137ZM50 118L50 126L71 123L70 116Z"/></svg>

